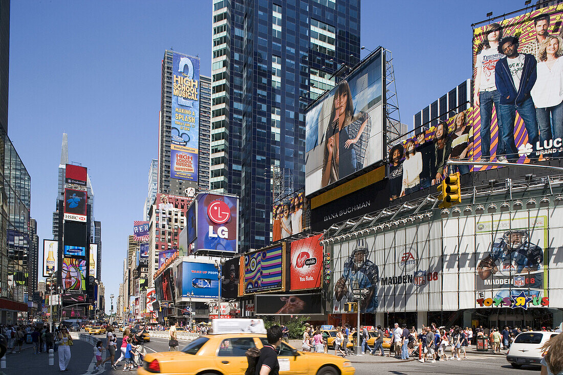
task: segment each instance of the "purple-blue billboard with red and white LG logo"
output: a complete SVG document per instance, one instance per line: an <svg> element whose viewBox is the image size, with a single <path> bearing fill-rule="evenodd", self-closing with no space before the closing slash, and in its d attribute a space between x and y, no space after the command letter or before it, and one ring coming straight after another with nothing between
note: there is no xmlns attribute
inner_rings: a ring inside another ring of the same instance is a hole
<svg viewBox="0 0 563 375"><path fill-rule="evenodd" d="M196 251L238 252L239 199L198 194Z"/></svg>

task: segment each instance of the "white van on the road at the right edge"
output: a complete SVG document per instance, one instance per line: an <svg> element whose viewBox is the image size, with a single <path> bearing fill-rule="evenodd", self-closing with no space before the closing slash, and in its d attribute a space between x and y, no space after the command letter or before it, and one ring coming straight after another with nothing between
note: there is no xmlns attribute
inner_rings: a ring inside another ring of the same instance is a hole
<svg viewBox="0 0 563 375"><path fill-rule="evenodd" d="M520 368L525 364L540 366L540 362L543 358L540 347L556 334L558 333L544 331L520 333L510 346L506 360L509 361L514 368Z"/></svg>

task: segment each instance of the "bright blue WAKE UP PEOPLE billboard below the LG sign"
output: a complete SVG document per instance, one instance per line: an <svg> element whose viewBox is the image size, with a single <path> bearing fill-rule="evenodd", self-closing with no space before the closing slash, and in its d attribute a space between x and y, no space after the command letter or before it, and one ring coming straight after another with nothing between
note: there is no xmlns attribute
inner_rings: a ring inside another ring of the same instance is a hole
<svg viewBox="0 0 563 375"><path fill-rule="evenodd" d="M178 297L217 298L219 295L219 271L212 263L181 262L176 283Z"/></svg>

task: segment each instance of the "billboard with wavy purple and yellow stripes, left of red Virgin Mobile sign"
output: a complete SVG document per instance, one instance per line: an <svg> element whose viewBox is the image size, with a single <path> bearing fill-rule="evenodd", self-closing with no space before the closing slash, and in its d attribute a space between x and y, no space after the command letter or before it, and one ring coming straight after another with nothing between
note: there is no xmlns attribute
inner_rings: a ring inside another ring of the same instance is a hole
<svg viewBox="0 0 563 375"><path fill-rule="evenodd" d="M244 256L243 293L284 290L285 243Z"/></svg>

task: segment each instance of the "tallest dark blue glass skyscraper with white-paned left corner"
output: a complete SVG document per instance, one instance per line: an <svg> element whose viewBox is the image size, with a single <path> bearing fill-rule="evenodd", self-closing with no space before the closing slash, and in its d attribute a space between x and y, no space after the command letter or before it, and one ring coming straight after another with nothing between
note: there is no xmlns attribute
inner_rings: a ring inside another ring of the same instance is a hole
<svg viewBox="0 0 563 375"><path fill-rule="evenodd" d="M305 106L360 60L359 0L213 0L211 190L240 197L243 251L270 242L272 175L305 185Z"/></svg>

